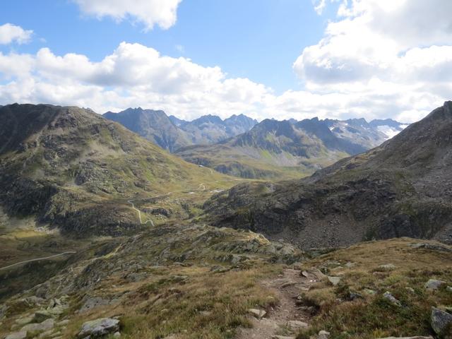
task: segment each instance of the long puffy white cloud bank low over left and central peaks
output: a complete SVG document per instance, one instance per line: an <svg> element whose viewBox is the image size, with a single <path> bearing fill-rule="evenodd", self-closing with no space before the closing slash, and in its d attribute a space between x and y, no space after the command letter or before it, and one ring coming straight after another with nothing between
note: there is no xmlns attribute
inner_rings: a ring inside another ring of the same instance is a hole
<svg viewBox="0 0 452 339"><path fill-rule="evenodd" d="M272 95L265 85L227 78L218 66L162 56L153 48L126 42L99 62L83 54L59 56L48 48L33 55L0 53L2 79L2 103L51 102L97 112L142 106L186 118L253 114L256 105Z"/></svg>

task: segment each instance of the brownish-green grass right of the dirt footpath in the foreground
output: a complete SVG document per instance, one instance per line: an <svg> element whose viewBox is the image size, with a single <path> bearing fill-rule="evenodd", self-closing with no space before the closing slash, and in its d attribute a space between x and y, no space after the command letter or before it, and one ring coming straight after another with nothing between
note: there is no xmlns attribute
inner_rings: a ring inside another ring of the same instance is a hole
<svg viewBox="0 0 452 339"><path fill-rule="evenodd" d="M309 338L322 329L331 331L333 338L350 339L431 335L431 307L450 306L452 292L446 290L446 285L429 292L424 284L433 278L452 285L452 253L412 248L412 244L420 242L439 244L409 238L366 242L304 263L305 267L321 268L342 280L337 287L319 283L304 294L305 304L318 307L319 314L313 327L297 338ZM352 267L346 263L352 263ZM396 268L379 268L388 263ZM376 294L369 295L366 289ZM386 291L399 299L402 307L384 299ZM350 292L357 292L362 298L347 301Z"/></svg>

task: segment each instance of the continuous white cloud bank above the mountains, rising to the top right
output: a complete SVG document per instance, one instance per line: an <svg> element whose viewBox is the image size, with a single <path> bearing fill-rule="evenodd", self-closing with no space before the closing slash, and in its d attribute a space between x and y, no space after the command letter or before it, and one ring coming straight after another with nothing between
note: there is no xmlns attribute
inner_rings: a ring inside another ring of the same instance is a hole
<svg viewBox="0 0 452 339"><path fill-rule="evenodd" d="M452 17L438 9L448 12L452 2L432 0L432 8L424 2L344 1L321 41L306 47L293 65L302 90L275 95L261 83L228 77L218 66L122 42L100 61L47 48L0 53L0 104L49 102L97 112L141 106L184 119L244 113L256 119L416 121L452 97ZM417 22L427 31L412 27Z"/></svg>

